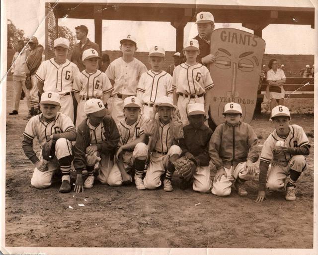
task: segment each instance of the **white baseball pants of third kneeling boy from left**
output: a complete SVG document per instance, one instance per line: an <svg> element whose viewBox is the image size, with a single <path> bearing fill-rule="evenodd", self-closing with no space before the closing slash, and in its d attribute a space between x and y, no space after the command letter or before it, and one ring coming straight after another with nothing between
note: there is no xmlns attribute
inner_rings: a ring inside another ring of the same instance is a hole
<svg viewBox="0 0 318 255"><path fill-rule="evenodd" d="M126 151L123 153L124 167L127 174L131 175L132 172L135 172L135 158L147 157L148 149L145 143L139 142L136 144L134 151ZM109 172L107 183L109 186L121 186L123 184L123 177L117 162L114 163L114 166Z"/></svg>

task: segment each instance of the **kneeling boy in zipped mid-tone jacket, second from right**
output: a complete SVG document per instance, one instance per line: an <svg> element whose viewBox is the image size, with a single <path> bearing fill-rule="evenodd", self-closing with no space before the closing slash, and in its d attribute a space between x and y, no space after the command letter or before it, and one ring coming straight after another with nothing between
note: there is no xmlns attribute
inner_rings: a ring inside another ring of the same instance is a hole
<svg viewBox="0 0 318 255"><path fill-rule="evenodd" d="M255 178L253 163L258 160L257 137L251 126L241 122L242 109L237 103L224 106L226 122L212 134L209 153L218 169L214 177L212 194L227 196L232 182L240 196L246 196L243 184Z"/></svg>

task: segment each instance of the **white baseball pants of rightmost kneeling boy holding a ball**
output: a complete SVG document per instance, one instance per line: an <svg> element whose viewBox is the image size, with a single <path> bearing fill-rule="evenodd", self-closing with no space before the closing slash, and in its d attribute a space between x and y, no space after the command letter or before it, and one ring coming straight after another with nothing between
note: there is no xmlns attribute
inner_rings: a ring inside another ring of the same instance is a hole
<svg viewBox="0 0 318 255"><path fill-rule="evenodd" d="M277 191L284 187L285 179L289 176L290 170L302 173L306 170L306 158L303 155L293 156L287 166L281 166L280 164L272 163L268 170L266 179L266 188L270 191Z"/></svg>

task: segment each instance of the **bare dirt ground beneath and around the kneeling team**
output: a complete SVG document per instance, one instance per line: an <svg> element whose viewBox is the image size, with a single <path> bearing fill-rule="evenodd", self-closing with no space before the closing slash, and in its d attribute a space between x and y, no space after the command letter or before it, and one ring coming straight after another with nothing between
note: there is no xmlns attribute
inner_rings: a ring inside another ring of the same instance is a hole
<svg viewBox="0 0 318 255"><path fill-rule="evenodd" d="M11 87L12 81L8 81L7 113L12 110ZM308 114L313 100L289 103L307 113L293 116L292 123L305 132L313 130L314 116ZM177 176L173 192L137 191L133 185L109 187L95 181L94 187L83 193L62 194L59 180L46 190L30 185L34 166L21 147L26 115L25 100L19 115L6 115L7 247L313 248L312 137L309 166L299 178L294 202L286 201L284 193L273 193L256 203L257 181L246 183L245 198L235 189L225 198L181 191ZM268 115L253 120L251 126L260 145L273 130ZM72 183L75 177L73 171ZM201 204L195 206L197 203Z"/></svg>

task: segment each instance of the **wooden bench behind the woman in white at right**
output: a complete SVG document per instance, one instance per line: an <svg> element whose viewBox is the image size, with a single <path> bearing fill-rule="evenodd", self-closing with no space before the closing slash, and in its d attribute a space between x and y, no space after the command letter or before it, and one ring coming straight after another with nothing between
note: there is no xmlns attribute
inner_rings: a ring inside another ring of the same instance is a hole
<svg viewBox="0 0 318 255"><path fill-rule="evenodd" d="M309 85L302 87L308 82L310 83ZM283 86L285 89L285 98L314 98L314 78L287 77L286 82ZM266 93L266 88L267 81L266 78L264 78L262 80L259 90L257 91L257 103L255 107L255 113L261 112L260 105L263 102L263 98Z"/></svg>

